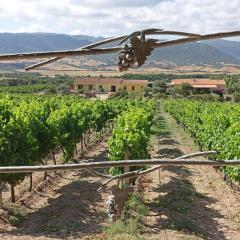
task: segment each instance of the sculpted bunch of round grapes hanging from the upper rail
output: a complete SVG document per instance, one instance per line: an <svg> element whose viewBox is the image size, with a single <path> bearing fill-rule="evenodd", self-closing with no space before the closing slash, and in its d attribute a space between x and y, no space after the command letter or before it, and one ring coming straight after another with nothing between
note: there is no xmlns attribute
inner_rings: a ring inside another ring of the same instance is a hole
<svg viewBox="0 0 240 240"><path fill-rule="evenodd" d="M134 66L136 57L132 48L125 48L118 53L118 67L119 71L127 71L129 67Z"/></svg>

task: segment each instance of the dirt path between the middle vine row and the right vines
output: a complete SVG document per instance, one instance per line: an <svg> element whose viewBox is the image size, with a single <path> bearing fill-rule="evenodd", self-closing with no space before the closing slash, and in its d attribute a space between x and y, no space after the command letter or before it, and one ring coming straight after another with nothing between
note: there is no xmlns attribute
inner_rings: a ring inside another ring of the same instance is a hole
<svg viewBox="0 0 240 240"><path fill-rule="evenodd" d="M164 136L157 139L152 157L175 158L197 150L168 114L163 113L161 124ZM148 178L145 239L240 239L239 193L212 167L164 167L160 178L158 172Z"/></svg>

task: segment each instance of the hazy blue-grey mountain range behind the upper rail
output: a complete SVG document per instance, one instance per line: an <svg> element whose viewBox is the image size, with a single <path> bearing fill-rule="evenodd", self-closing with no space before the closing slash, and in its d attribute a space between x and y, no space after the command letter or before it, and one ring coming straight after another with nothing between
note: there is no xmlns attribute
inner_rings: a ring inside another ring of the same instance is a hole
<svg viewBox="0 0 240 240"><path fill-rule="evenodd" d="M55 33L0 33L0 54L76 49L102 39L104 38ZM95 58L108 65L116 64L117 61L116 55L87 58ZM240 42L211 40L160 48L153 51L148 64L155 65L159 61L176 65L240 65Z"/></svg>

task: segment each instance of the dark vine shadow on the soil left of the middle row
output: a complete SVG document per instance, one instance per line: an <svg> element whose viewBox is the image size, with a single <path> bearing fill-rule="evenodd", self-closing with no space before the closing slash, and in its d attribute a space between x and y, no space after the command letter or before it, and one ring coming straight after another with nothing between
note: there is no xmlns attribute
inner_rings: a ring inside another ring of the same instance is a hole
<svg viewBox="0 0 240 240"><path fill-rule="evenodd" d="M107 151L98 151L93 157L85 158L88 161L106 160ZM89 178L88 172L76 172L74 179L66 179L69 184L56 190L59 197L49 198L48 194L37 192L39 199L48 199L48 205L34 213L26 215L25 220L17 225L17 229L7 232L10 236L52 237L65 239L75 236L80 239L83 235L92 235L102 232L101 223L107 219L105 209L99 210L97 203L105 202L97 189L98 179ZM86 179L88 178L88 179ZM79 180L78 180L79 179ZM73 181L73 182L71 182Z"/></svg>

